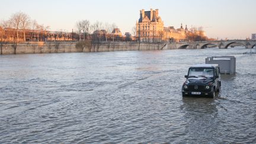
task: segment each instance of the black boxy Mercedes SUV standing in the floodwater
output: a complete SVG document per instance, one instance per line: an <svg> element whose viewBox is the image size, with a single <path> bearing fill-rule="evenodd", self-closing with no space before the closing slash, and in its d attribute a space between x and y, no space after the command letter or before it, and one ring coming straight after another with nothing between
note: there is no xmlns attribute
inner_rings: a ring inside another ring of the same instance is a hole
<svg viewBox="0 0 256 144"><path fill-rule="evenodd" d="M188 95L215 97L216 92L220 91L219 65L201 64L191 66L185 78L187 80L182 87L183 97Z"/></svg>

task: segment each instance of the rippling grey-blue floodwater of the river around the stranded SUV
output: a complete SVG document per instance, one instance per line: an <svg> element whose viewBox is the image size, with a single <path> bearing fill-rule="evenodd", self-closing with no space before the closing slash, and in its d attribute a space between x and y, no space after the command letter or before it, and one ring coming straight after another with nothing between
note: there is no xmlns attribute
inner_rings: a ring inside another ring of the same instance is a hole
<svg viewBox="0 0 256 144"><path fill-rule="evenodd" d="M256 143L256 55L243 52L0 55L0 143ZM188 67L223 55L237 73L217 97L183 98Z"/></svg>

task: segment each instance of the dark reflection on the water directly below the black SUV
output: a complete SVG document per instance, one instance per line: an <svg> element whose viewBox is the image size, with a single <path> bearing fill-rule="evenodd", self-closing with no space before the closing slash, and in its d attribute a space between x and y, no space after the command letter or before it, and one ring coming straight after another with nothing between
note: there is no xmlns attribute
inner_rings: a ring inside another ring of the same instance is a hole
<svg viewBox="0 0 256 144"><path fill-rule="evenodd" d="M183 98L183 119L186 139L191 143L216 142L215 135L218 133L219 123L216 121L218 110L213 98Z"/></svg>

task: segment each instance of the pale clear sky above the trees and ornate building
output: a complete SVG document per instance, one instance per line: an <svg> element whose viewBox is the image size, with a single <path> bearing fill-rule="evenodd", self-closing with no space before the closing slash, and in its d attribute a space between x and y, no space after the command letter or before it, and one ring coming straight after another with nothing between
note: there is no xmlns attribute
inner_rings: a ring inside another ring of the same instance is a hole
<svg viewBox="0 0 256 144"><path fill-rule="evenodd" d="M255 0L0 0L0 20L25 12L50 30L72 31L78 20L115 23L132 32L140 9L159 9L165 27L203 27L210 38L245 39L256 33Z"/></svg>

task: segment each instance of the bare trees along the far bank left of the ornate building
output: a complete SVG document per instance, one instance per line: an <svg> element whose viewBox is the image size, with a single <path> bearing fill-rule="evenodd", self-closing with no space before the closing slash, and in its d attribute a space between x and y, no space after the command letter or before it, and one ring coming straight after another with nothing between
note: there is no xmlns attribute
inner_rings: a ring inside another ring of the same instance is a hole
<svg viewBox="0 0 256 144"><path fill-rule="evenodd" d="M127 40L121 34L112 34L116 24L101 23L96 21L91 24L89 20L80 20L75 24L75 31L49 31L49 26L37 23L24 12L12 14L8 20L0 21L0 41L66 41L66 40ZM129 40L130 40L129 36Z"/></svg>

